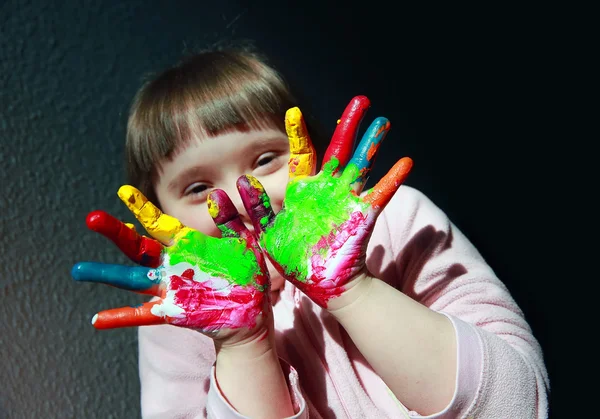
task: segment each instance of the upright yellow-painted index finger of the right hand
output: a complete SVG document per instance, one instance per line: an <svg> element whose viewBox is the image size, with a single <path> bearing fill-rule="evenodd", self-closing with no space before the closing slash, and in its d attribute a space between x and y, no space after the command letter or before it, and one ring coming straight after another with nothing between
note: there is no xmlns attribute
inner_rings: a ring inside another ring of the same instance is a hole
<svg viewBox="0 0 600 419"><path fill-rule="evenodd" d="M310 141L302 112L295 107L285 113L285 130L290 140L290 160L288 162L290 179L314 174L317 154Z"/></svg>

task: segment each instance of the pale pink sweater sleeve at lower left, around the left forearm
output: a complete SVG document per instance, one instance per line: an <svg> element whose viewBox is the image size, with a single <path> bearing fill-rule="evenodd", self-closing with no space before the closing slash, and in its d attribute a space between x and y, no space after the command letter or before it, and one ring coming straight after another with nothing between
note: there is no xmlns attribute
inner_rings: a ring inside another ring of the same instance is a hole
<svg viewBox="0 0 600 419"><path fill-rule="evenodd" d="M244 418L221 393L214 372L214 345L184 328L144 326L138 331L141 408L144 419ZM298 373L285 361L294 419L308 417Z"/></svg>

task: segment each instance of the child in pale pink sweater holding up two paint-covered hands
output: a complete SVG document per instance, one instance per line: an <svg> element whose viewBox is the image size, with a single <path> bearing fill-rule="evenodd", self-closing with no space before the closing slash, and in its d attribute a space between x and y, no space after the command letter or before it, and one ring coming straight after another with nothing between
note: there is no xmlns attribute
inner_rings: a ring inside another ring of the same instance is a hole
<svg viewBox="0 0 600 419"><path fill-rule="evenodd" d="M400 186L411 160L363 190L390 127L375 119L352 154L368 107L350 102L317 168L310 126L257 54L199 53L138 92L137 189L119 196L152 237L101 211L88 225L142 267L73 276L155 296L93 319L142 326L143 417L546 417L523 313L446 215Z"/></svg>

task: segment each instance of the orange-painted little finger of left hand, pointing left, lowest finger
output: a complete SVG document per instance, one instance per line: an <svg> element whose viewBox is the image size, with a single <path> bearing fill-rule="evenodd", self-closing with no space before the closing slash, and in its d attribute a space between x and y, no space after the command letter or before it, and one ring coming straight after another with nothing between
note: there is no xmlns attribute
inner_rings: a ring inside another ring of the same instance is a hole
<svg viewBox="0 0 600 419"><path fill-rule="evenodd" d="M150 326L165 324L165 317L152 313L155 306L161 301L149 301L137 307L121 307L104 310L92 318L92 325L96 329L116 329L118 327ZM155 309L156 310L156 309Z"/></svg>

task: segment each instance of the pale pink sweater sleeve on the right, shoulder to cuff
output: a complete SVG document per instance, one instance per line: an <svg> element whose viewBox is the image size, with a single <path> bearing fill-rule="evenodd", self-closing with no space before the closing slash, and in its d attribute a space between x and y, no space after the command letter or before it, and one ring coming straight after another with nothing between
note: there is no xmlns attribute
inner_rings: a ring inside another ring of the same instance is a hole
<svg viewBox="0 0 600 419"><path fill-rule="evenodd" d="M371 254L379 263L371 263L371 271L447 316L456 332L455 393L442 412L428 418L545 419L549 380L541 347L472 243L408 186L398 190L378 224Z"/></svg>

